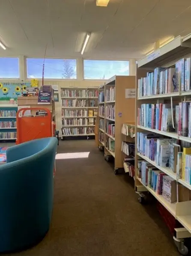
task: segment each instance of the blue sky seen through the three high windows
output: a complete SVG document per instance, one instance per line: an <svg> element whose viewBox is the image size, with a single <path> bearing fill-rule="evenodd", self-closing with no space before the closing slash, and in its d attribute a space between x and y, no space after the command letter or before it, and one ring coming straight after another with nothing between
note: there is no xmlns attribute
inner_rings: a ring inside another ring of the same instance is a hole
<svg viewBox="0 0 191 256"><path fill-rule="evenodd" d="M42 78L44 59L27 58L27 77ZM76 79L76 60L45 59L44 78ZM108 79L128 75L128 61L84 60L84 79ZM19 59L0 58L0 78L19 78Z"/></svg>

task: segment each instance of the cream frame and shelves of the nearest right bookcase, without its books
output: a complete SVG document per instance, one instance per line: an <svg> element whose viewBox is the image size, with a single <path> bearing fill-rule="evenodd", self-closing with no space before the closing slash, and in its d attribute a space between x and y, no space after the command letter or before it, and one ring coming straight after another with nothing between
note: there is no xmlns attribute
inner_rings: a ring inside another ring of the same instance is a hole
<svg viewBox="0 0 191 256"><path fill-rule="evenodd" d="M154 68L168 68L175 65L175 62L184 57L191 57L191 34L189 34L185 38L176 37L170 43L167 43L165 46L161 47L160 49L156 50L149 56L141 59L137 62L137 72L136 72L136 80L137 80L137 87L138 87L138 80L141 77L146 77L146 72L153 70ZM161 100L176 100L179 99L180 101L184 99L186 96L191 96L190 91L181 91L179 88L179 92L176 93L168 93L168 94L159 94L159 95L151 95L151 96L144 96L138 97L138 88L136 89L136 117L138 116L137 109L140 107L141 104L145 103L159 103ZM137 118L136 118L136 140L137 140L137 132L144 132L149 131L152 133L161 134L163 136L167 136L174 139L179 139L181 141L190 142L191 138L178 136L177 133L167 133L160 130L151 129L148 127L143 127L137 125ZM137 152L137 141L136 141L136 149ZM137 160L146 160L147 162L151 163L153 166L157 167L158 170L166 173L168 176L172 177L177 182L177 193L179 191L179 185L183 185L185 189L191 190L191 185L185 182L182 179L178 179L176 173L173 173L170 168L164 168L158 166L154 161L150 160L148 157L143 156L139 153L135 156L135 171L136 171L136 179L135 179L135 189L137 192L141 191L149 191L181 224L184 228L176 228L176 237L174 237L175 244L178 247L179 251L184 253L186 252L187 248L184 246L183 241L179 238L186 238L191 237L191 200L179 202L177 197L177 202L170 204L167 200L165 200L161 195L158 195L148 186L145 186L141 179L137 176Z"/></svg>

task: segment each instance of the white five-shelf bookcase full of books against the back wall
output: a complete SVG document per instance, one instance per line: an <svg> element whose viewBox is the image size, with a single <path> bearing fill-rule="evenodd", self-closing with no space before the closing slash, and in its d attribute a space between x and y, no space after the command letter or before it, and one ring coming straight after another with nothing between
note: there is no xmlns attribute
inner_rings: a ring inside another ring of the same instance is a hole
<svg viewBox="0 0 191 256"><path fill-rule="evenodd" d="M95 136L98 88L61 88L62 139Z"/></svg>

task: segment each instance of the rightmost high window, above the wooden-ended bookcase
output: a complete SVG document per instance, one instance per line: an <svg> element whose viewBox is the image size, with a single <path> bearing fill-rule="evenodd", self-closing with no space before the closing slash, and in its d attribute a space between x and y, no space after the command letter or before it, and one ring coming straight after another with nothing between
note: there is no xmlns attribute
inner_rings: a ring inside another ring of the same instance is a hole
<svg viewBox="0 0 191 256"><path fill-rule="evenodd" d="M109 79L114 75L129 75L128 61L84 60L84 79Z"/></svg>

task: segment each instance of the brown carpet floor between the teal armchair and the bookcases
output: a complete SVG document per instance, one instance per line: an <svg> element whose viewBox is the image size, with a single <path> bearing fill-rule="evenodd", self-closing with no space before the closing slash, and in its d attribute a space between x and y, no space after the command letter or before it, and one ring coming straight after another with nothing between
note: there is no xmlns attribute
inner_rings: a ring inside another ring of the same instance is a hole
<svg viewBox="0 0 191 256"><path fill-rule="evenodd" d="M155 205L138 203L131 178L115 176L93 140L60 142L64 152L90 154L57 160L50 231L15 256L179 255Z"/></svg>

